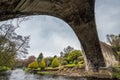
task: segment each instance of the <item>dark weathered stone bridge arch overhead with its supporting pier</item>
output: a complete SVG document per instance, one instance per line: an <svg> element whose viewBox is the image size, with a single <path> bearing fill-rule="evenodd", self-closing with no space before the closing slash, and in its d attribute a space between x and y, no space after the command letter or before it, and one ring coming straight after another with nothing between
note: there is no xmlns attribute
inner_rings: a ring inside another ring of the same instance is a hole
<svg viewBox="0 0 120 80"><path fill-rule="evenodd" d="M95 25L95 0L2 0L0 21L28 15L52 15L66 21L84 50L86 70L105 67Z"/></svg>

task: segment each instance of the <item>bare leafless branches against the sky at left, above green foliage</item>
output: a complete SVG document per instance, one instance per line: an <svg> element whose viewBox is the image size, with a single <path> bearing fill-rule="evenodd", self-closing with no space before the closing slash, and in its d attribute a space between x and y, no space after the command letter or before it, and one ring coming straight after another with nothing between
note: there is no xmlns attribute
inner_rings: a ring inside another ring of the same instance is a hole
<svg viewBox="0 0 120 80"><path fill-rule="evenodd" d="M29 40L30 36L21 36L15 33L15 30L18 28L18 26L14 26L13 24L2 24L0 26L0 37L3 38L1 47L6 45L6 42L4 40L9 40L10 42L15 44L15 52L16 55L24 55L28 54L28 48L29 48Z"/></svg>

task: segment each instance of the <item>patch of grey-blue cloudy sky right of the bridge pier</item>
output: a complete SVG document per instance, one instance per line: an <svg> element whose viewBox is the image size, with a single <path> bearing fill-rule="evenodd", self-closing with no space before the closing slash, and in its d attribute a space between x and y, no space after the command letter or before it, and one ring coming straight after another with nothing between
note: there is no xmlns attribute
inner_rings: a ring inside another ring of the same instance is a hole
<svg viewBox="0 0 120 80"><path fill-rule="evenodd" d="M96 0L95 13L101 41L106 42L107 34L120 34L120 0Z"/></svg>

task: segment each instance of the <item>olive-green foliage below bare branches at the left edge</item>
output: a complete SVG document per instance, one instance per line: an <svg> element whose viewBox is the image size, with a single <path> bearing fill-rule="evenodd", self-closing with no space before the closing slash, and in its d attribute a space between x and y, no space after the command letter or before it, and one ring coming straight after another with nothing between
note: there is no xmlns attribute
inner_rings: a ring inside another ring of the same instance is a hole
<svg viewBox="0 0 120 80"><path fill-rule="evenodd" d="M5 37L0 36L0 66L13 67L14 64L15 44Z"/></svg>

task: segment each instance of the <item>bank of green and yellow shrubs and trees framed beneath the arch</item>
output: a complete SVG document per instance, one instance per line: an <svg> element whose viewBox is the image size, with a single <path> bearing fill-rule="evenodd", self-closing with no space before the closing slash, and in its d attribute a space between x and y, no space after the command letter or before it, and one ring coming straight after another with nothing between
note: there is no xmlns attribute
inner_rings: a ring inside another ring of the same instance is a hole
<svg viewBox="0 0 120 80"><path fill-rule="evenodd" d="M29 63L24 70L37 74L62 75L62 72L66 72L68 69L76 71L84 67L85 63L81 51L68 46L60 53L60 57L56 55L54 57L43 57L43 54L40 53L38 58Z"/></svg>

